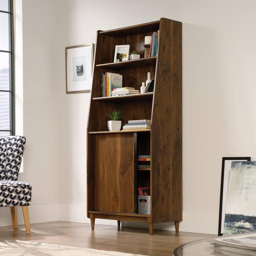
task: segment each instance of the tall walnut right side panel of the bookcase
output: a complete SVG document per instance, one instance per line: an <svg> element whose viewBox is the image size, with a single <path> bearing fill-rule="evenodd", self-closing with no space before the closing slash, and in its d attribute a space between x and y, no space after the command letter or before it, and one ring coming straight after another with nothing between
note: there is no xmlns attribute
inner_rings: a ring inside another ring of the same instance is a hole
<svg viewBox="0 0 256 256"><path fill-rule="evenodd" d="M151 126L152 223L182 220L182 24L161 18Z"/></svg>

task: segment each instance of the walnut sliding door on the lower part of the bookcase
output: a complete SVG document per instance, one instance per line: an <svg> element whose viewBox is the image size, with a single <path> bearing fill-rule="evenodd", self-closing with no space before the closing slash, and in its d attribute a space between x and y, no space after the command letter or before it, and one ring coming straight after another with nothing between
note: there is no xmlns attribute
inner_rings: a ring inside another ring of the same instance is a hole
<svg viewBox="0 0 256 256"><path fill-rule="evenodd" d="M95 136L95 210L134 213L134 136L134 133Z"/></svg>

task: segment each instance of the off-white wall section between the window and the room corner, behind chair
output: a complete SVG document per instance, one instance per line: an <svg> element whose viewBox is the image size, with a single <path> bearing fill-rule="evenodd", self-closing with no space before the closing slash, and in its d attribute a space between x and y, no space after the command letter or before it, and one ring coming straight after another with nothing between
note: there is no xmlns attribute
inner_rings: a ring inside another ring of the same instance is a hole
<svg viewBox="0 0 256 256"><path fill-rule="evenodd" d="M20 25L21 1L17 1L16 24ZM19 180L32 184L31 223L55 221L59 220L57 1L23 0L22 9L23 134L27 143ZM17 81L18 86L22 81ZM18 223L24 224L21 212ZM0 225L10 224L9 207L1 209Z"/></svg>

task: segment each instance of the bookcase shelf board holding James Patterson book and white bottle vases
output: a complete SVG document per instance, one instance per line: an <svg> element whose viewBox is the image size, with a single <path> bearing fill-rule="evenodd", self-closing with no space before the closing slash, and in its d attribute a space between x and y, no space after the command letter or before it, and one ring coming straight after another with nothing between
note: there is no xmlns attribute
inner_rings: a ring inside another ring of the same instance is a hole
<svg viewBox="0 0 256 256"><path fill-rule="evenodd" d="M153 92L142 93L142 94L134 94L134 95L122 95L115 97L99 97L92 98L92 100L99 101L113 101L113 102L128 102L128 101L143 101L143 100L152 100Z"/></svg>

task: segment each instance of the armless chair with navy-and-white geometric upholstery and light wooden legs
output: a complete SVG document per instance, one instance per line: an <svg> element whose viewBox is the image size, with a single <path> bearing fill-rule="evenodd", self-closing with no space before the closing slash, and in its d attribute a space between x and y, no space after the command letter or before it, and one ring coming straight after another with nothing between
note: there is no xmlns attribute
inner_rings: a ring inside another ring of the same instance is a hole
<svg viewBox="0 0 256 256"><path fill-rule="evenodd" d="M28 206L31 185L18 181L25 149L24 136L0 136L0 207L10 206L13 228L17 228L17 206L22 207L27 234L30 234Z"/></svg>

